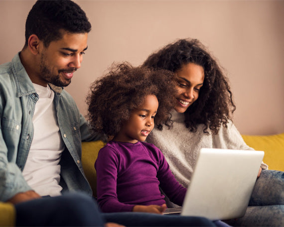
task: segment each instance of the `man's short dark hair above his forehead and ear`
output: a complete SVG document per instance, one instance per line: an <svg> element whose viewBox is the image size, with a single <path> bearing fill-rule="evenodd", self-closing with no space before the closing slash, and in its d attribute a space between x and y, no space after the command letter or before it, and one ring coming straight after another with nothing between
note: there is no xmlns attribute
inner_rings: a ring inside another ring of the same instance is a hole
<svg viewBox="0 0 284 227"><path fill-rule="evenodd" d="M62 38L62 30L88 33L91 23L80 6L71 0L37 0L26 18L24 47L32 34L48 47L51 41Z"/></svg>

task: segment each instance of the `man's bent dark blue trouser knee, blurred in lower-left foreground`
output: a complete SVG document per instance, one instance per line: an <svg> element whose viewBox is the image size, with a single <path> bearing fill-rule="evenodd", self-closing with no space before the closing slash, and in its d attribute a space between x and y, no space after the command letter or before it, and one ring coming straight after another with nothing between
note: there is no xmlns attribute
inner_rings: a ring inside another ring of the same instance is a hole
<svg viewBox="0 0 284 227"><path fill-rule="evenodd" d="M97 205L81 193L31 200L15 209L16 226L104 226Z"/></svg>

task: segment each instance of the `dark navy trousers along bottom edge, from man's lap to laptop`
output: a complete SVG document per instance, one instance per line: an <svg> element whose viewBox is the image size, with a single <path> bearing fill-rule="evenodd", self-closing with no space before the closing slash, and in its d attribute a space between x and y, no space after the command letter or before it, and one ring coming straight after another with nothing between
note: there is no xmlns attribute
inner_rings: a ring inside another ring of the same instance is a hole
<svg viewBox="0 0 284 227"><path fill-rule="evenodd" d="M124 226L216 226L199 217L162 216L149 213L101 213L96 202L81 193L35 199L15 205L16 226L94 226L106 222ZM218 225L217 225L218 226Z"/></svg>

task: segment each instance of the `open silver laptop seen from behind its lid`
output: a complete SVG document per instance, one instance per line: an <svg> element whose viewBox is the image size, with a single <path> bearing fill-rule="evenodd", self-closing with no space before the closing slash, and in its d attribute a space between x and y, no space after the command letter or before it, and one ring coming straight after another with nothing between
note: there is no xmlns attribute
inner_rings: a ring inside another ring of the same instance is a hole
<svg viewBox="0 0 284 227"><path fill-rule="evenodd" d="M228 220L245 215L263 151L202 148L183 206L164 214Z"/></svg>

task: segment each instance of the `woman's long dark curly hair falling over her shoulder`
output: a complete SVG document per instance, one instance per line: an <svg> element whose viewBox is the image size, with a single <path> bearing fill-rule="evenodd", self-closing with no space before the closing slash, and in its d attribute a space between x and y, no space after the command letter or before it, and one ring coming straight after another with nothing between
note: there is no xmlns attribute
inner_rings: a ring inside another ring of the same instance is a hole
<svg viewBox="0 0 284 227"><path fill-rule="evenodd" d="M177 72L188 63L204 69L204 82L198 99L185 111L185 125L196 132L198 124L204 124L204 133L217 134L221 124L227 127L236 110L228 79L217 61L197 39L180 39L151 54L143 66Z"/></svg>

